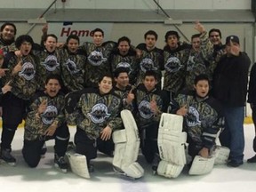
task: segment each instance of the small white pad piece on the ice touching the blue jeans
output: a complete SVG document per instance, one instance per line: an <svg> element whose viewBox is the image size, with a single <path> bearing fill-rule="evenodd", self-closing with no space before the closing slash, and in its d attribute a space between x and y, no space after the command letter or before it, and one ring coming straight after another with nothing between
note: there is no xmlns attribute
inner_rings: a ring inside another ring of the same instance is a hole
<svg viewBox="0 0 256 192"><path fill-rule="evenodd" d="M216 146L214 150L214 164L227 164L230 149L227 147Z"/></svg>

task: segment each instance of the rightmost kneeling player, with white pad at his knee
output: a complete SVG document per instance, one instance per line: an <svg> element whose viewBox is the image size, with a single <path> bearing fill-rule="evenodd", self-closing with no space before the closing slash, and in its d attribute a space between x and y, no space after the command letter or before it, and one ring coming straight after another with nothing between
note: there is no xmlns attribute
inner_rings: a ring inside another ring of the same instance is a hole
<svg viewBox="0 0 256 192"><path fill-rule="evenodd" d="M184 117L183 131L188 132L188 155L192 157L192 161L195 156L204 158L205 164L202 167L200 165L198 167L194 162L191 163L193 167L191 174L200 174L212 170L214 164L214 159L211 158L212 152L215 149L218 132L224 128L224 117L220 103L208 95L208 76L204 74L196 76L194 87L194 92L180 93L172 101L172 113ZM208 163L207 159L209 159ZM200 160L198 162L200 163Z"/></svg>

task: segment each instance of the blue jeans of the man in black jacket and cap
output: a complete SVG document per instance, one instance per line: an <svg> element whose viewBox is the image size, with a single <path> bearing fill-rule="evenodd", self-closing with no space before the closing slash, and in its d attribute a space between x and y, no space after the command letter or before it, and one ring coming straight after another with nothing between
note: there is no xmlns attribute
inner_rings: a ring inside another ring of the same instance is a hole
<svg viewBox="0 0 256 192"><path fill-rule="evenodd" d="M225 129L220 143L230 149L229 159L242 163L244 158L244 107L224 106Z"/></svg>

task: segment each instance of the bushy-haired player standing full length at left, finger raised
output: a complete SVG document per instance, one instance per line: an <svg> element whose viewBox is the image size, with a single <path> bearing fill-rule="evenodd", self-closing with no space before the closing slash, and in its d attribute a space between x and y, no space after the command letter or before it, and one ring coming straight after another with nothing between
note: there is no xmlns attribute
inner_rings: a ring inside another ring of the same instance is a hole
<svg viewBox="0 0 256 192"><path fill-rule="evenodd" d="M11 155L11 144L18 125L26 115L28 100L36 92L36 66L39 59L31 52L34 44L31 36L19 36L15 45L20 50L17 56L14 52L6 54L4 68L9 70L3 77L4 84L10 82L12 91L3 97L3 132L1 138L1 158L15 164L16 159Z"/></svg>

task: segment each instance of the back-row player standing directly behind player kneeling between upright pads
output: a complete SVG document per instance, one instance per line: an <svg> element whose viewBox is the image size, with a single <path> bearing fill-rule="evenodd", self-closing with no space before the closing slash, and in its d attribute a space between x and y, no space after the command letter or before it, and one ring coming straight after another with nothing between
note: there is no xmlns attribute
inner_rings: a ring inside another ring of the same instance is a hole
<svg viewBox="0 0 256 192"><path fill-rule="evenodd" d="M156 47L157 41L156 31L148 30L144 34L145 43L138 44L136 47L138 55L139 73L137 79L137 85L143 82L145 72L148 70L156 71L157 86L161 88L161 71L164 70L164 58L163 50Z"/></svg>

